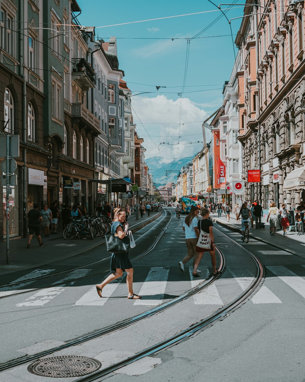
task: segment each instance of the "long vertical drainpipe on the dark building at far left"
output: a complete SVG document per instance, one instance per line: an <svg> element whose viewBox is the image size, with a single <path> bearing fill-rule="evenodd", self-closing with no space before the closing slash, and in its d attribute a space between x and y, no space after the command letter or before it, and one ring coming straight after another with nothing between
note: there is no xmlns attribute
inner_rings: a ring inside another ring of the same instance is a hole
<svg viewBox="0 0 305 382"><path fill-rule="evenodd" d="M24 25L24 1L19 0L19 23L21 28ZM20 28L20 29L21 29ZM22 29L23 31L23 29ZM22 140L27 144L26 130L26 76L24 74L24 35L19 34L19 76L22 78ZM26 219L26 191L27 191L27 174L26 174L26 152L27 147L22 149L22 211L23 211L23 237L27 236L27 219Z"/></svg>

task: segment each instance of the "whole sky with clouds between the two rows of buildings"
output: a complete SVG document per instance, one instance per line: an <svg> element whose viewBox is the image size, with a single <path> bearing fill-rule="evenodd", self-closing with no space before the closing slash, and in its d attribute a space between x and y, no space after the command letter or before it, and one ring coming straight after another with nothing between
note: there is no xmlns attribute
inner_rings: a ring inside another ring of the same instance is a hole
<svg viewBox="0 0 305 382"><path fill-rule="evenodd" d="M161 155L163 162L168 163L200 151L202 144L194 144L202 140L200 121L220 107L222 86L230 78L234 63L230 26L225 17L203 32L199 36L202 38L190 41L181 106L177 93L182 91L185 73L186 38L201 32L221 12L207 0L150 3L78 0L78 4L82 9L78 16L80 24L95 26L96 36L105 41L111 36L117 37L119 66L133 94L153 92L132 97L133 117L139 135L144 138L146 157ZM234 8L226 13L228 19L243 15L243 6L234 5ZM98 28L211 10L213 12ZM234 40L240 24L241 19L232 21ZM157 91L156 86L166 88ZM179 129L180 110L184 125Z"/></svg>

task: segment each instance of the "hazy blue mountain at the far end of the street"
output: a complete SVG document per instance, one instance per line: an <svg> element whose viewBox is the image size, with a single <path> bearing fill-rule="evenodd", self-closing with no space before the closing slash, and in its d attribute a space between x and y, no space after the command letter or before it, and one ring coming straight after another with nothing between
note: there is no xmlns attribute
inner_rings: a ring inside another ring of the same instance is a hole
<svg viewBox="0 0 305 382"><path fill-rule="evenodd" d="M148 165L149 172L153 175L154 183L157 183L157 187L159 187L164 186L169 182L176 183L179 171L183 166L192 162L192 159L193 157L186 157L179 160L173 160L164 165L164 168L160 157L147 158L145 159L145 162Z"/></svg>

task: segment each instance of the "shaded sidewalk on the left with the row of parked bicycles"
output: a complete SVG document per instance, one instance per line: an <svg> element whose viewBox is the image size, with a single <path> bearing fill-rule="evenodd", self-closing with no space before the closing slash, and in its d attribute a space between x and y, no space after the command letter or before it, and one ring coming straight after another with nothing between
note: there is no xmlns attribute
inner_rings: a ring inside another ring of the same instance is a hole
<svg viewBox="0 0 305 382"><path fill-rule="evenodd" d="M146 224L151 223L157 219L162 212L153 212L149 217L147 214L139 220L136 220L135 214L128 218L130 229L135 232L140 230ZM39 247L36 236L33 236L31 241L31 248L27 249L27 238L10 240L10 264L6 265L6 241L0 243L0 275L16 272L19 270L42 267L51 262L60 261L69 257L81 254L85 251L93 249L105 241L101 236L96 236L93 240L71 239L66 240L63 238L63 232L60 231L58 235L50 235L50 238L42 236L43 247Z"/></svg>

